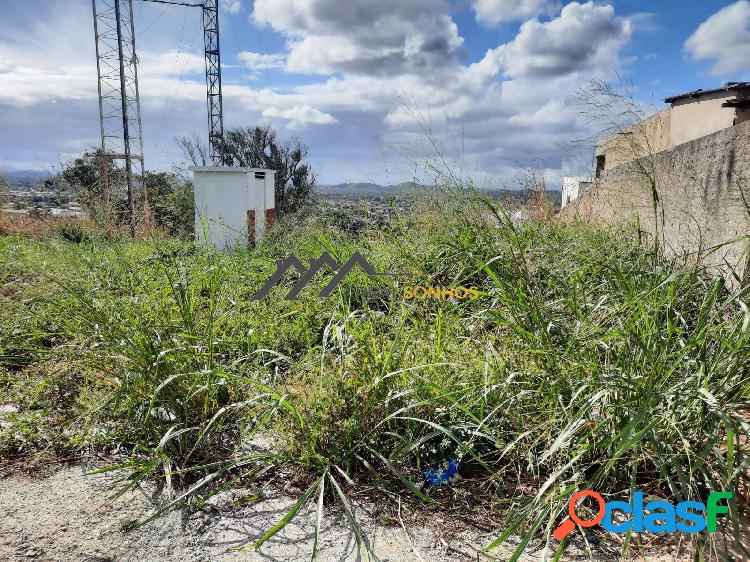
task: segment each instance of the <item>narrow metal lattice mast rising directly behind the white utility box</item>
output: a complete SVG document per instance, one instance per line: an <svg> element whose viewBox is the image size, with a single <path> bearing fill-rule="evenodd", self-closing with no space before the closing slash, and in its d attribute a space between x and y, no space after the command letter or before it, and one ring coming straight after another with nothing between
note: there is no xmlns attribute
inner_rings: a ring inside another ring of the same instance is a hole
<svg viewBox="0 0 750 562"><path fill-rule="evenodd" d="M215 166L223 166L224 115L221 93L221 50L219 42L219 0L203 4L203 39L206 54L206 85L208 88L208 146Z"/></svg>

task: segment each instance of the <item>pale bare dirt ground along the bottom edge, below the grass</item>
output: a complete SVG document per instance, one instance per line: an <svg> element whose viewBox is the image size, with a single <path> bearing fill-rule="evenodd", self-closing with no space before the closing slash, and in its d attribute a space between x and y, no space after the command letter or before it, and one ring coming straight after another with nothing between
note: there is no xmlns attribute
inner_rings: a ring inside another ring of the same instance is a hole
<svg viewBox="0 0 750 562"><path fill-rule="evenodd" d="M92 467L88 467L90 470ZM13 475L0 480L0 560L105 561L297 561L311 555L314 515L306 510L260 550L252 547L292 505L270 497L243 504L253 493L232 490L193 514L169 513L147 526L128 523L151 513L148 491L109 501L113 475L86 475L87 467L65 467L45 476ZM271 492L269 492L270 495ZM464 533L450 543L434 529L383 527L362 514L380 560L422 562L487 559L475 548L486 544ZM327 515L320 560L358 560L356 542L341 516ZM500 554L500 553L498 553ZM532 558L529 558L531 560Z"/></svg>

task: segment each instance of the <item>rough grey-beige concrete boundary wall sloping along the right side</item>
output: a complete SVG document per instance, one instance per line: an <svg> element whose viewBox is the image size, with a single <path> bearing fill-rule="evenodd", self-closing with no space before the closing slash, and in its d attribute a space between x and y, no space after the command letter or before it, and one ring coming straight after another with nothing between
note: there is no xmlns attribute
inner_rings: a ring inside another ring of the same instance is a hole
<svg viewBox="0 0 750 562"><path fill-rule="evenodd" d="M640 166L639 166L640 164ZM645 170L645 173L644 173ZM656 217L652 185L659 196ZM698 252L750 235L750 122L610 170L562 212L563 220L639 220L659 233L667 254ZM724 246L704 260L748 277L748 242Z"/></svg>

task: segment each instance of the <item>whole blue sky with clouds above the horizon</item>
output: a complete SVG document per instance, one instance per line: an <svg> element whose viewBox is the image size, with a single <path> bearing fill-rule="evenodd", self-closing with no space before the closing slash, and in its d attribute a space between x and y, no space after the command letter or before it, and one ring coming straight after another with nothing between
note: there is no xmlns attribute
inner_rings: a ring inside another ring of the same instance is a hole
<svg viewBox="0 0 750 562"><path fill-rule="evenodd" d="M200 11L134 1L146 162L206 135ZM395 183L435 150L472 174L584 171L591 79L669 95L750 80L750 0L222 0L228 127L271 123L323 183ZM0 165L98 144L89 0L0 0ZM427 135L426 132L430 132Z"/></svg>

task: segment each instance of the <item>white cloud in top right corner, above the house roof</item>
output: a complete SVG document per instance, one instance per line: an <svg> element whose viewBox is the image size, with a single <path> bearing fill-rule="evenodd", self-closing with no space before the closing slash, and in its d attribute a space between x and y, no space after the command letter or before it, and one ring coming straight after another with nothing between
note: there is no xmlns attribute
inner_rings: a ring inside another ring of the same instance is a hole
<svg viewBox="0 0 750 562"><path fill-rule="evenodd" d="M750 69L750 1L739 0L722 8L698 26L685 41L695 60L712 60L713 74Z"/></svg>

